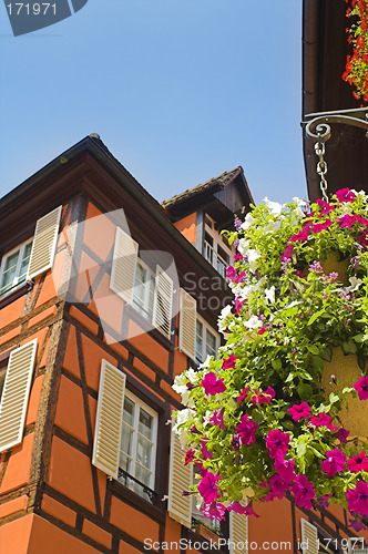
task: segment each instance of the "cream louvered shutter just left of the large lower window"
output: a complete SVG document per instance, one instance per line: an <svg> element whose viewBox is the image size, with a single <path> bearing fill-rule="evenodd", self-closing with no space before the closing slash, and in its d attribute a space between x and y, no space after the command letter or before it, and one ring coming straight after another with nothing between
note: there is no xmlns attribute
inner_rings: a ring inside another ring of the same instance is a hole
<svg viewBox="0 0 368 554"><path fill-rule="evenodd" d="M117 479L125 375L102 360L92 463Z"/></svg>

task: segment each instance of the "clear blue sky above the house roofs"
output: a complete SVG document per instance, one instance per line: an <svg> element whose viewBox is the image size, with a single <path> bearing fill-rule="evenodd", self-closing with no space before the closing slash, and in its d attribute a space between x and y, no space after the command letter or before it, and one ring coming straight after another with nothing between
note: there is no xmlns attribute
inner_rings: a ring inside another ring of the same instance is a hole
<svg viewBox="0 0 368 554"><path fill-rule="evenodd" d="M89 0L14 38L0 9L0 196L90 133L159 201L242 165L306 197L301 0Z"/></svg>

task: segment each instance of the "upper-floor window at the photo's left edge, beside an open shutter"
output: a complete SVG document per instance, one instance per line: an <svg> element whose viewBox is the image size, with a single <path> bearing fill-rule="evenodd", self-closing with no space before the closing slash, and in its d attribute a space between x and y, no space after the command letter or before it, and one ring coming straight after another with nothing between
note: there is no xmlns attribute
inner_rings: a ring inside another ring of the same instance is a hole
<svg viewBox="0 0 368 554"><path fill-rule="evenodd" d="M32 239L6 254L0 267L0 296L25 281Z"/></svg>

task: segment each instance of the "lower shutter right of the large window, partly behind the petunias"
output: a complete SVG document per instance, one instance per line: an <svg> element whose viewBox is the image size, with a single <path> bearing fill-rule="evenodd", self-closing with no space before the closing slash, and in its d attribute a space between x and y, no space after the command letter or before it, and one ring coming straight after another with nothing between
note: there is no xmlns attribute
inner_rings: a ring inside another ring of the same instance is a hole
<svg viewBox="0 0 368 554"><path fill-rule="evenodd" d="M191 529L192 526L192 495L184 496L193 483L193 463L184 465L184 450L178 437L171 432L170 474L168 474L168 505L170 517Z"/></svg>

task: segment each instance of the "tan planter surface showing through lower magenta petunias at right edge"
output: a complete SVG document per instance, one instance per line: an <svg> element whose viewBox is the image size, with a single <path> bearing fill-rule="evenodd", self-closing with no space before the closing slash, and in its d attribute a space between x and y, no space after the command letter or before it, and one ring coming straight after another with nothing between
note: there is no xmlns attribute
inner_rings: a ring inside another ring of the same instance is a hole
<svg viewBox="0 0 368 554"><path fill-rule="evenodd" d="M337 384L331 382L331 375L336 377ZM352 387L359 377L361 377L361 369L358 366L357 356L344 356L340 347L334 348L333 359L330 362L325 362L320 380L321 389L326 392L326 399L330 392L341 393L345 387ZM349 410L346 409L345 402L343 402L339 418L344 427L350 431L349 439L361 437L367 440L368 403L359 400L359 398L351 398L351 394L347 394L347 398L349 400Z"/></svg>

